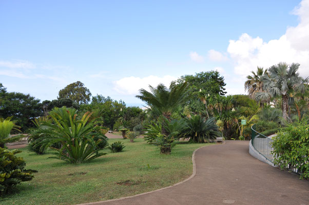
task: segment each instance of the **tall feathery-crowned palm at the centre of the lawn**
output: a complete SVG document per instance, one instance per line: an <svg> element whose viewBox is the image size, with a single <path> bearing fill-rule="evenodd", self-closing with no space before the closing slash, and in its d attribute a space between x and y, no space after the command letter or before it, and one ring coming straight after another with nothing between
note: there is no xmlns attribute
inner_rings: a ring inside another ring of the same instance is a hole
<svg viewBox="0 0 309 205"><path fill-rule="evenodd" d="M188 98L187 83L171 83L169 88L159 84L157 88L149 85L150 92L140 89L140 95L136 97L143 100L153 111L160 113L170 121L171 114L177 107L185 103ZM166 129L162 126L162 134L168 136Z"/></svg>

